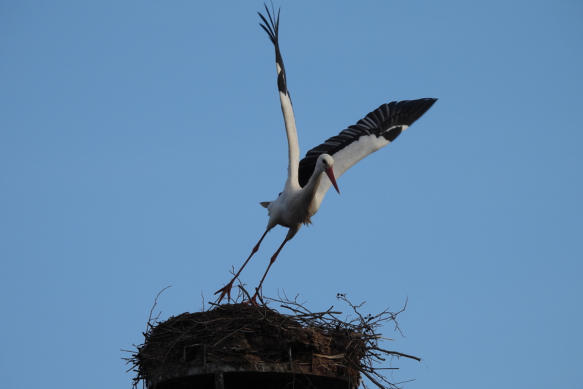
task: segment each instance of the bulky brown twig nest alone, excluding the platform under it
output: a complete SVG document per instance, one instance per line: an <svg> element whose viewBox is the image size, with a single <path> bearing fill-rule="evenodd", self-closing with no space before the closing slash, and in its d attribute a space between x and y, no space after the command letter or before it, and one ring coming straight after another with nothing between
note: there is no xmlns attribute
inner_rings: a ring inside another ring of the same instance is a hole
<svg viewBox="0 0 583 389"><path fill-rule="evenodd" d="M378 341L384 338L377 330L388 321L399 330L395 318L405 308L398 313L385 310L362 316L357 310L360 306L348 302L344 295L339 294L338 299L353 309L352 319L340 319L341 313L332 307L314 313L287 298L269 299L268 303L280 303L290 314L266 305L234 303L213 304L210 310L186 312L166 321L150 319L144 343L136 346L132 358L124 358L133 366L129 370L137 373L134 388L141 380L151 386L168 373L193 367L246 364L286 364L303 367L297 372L307 368L329 377L353 377L355 383L363 374L379 388L398 388L380 374L377 362L387 356L420 359L381 349Z"/></svg>

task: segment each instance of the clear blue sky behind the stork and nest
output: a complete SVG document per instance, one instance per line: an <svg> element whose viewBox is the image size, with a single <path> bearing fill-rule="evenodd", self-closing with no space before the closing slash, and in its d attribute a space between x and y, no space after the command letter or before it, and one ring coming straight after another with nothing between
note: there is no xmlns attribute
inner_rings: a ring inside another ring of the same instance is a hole
<svg viewBox="0 0 583 389"><path fill-rule="evenodd" d="M265 295L408 298L405 338L384 331L423 358L393 361L406 388L580 387L583 2L279 5L303 154L439 100L338 180ZM2 387L130 387L157 293L161 318L200 310L247 258L287 168L262 7L2 2Z"/></svg>

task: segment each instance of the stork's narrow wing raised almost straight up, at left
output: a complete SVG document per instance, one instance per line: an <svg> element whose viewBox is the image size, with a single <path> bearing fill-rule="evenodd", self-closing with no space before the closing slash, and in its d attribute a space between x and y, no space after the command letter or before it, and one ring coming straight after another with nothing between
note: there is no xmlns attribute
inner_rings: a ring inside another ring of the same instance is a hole
<svg viewBox="0 0 583 389"><path fill-rule="evenodd" d="M273 45L275 46L275 65L278 70L278 90L279 90L279 100L282 103L282 113L283 121L286 125L287 133L287 146L288 146L288 158L289 164L287 165L287 182L286 186L290 183L296 183L298 177L298 163L300 161L300 146L297 142L297 131L296 131L296 119L293 114L293 107L291 106L291 99L289 90L287 90L287 79L286 79L286 69L283 67L282 53L279 51L279 10L278 17L275 18L275 10L273 10L273 16L269 12L269 8L265 5L265 10L267 16L269 17L269 23L267 19L260 12L259 16L265 24L259 23L265 32L269 35ZM275 19L275 21L274 21Z"/></svg>

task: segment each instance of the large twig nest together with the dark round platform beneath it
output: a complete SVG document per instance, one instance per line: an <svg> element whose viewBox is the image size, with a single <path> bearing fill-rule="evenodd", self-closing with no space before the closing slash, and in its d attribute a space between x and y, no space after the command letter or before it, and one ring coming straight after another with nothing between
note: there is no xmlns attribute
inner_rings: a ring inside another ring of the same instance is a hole
<svg viewBox="0 0 583 389"><path fill-rule="evenodd" d="M374 363L382 356L420 360L378 347L387 338L375 330L388 321L398 330L402 310L362 316L348 302L356 316L345 322L331 309L312 313L279 302L293 314L234 303L150 320L145 342L126 359L138 373L134 388L143 381L147 389L356 389L361 374L379 388L397 388Z"/></svg>

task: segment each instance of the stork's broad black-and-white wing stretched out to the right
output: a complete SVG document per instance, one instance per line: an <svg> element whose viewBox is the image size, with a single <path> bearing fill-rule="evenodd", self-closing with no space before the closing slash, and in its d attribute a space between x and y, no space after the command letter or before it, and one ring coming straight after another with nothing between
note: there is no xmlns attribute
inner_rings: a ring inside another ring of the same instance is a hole
<svg viewBox="0 0 583 389"><path fill-rule="evenodd" d="M421 117L437 99L393 101L382 104L357 124L307 152L300 161L298 181L301 187L308 183L316 161L321 154L334 159L334 176L338 178L353 164L391 143L401 132ZM318 194L324 195L332 183L322 177Z"/></svg>

